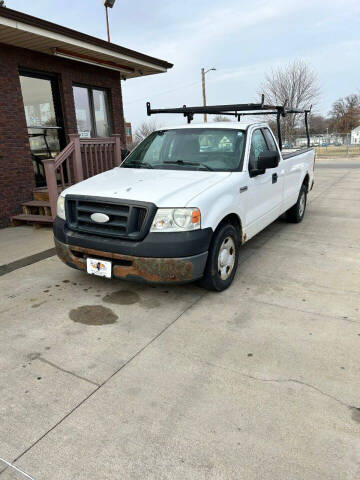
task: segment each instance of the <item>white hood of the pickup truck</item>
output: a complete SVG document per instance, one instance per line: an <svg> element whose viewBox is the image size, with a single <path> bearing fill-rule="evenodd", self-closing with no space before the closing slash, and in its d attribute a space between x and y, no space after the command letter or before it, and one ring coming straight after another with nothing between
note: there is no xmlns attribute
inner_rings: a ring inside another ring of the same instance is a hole
<svg viewBox="0 0 360 480"><path fill-rule="evenodd" d="M231 172L116 167L67 188L62 195L137 200L152 202L158 207L185 207L194 197L229 175Z"/></svg>

